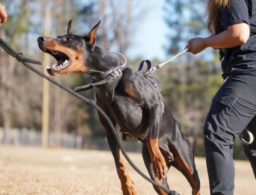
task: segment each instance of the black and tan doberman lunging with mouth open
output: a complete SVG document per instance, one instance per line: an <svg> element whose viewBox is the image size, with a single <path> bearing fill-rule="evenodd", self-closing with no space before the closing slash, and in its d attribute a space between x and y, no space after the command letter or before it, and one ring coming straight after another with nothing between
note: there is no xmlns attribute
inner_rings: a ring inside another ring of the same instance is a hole
<svg viewBox="0 0 256 195"><path fill-rule="evenodd" d="M47 69L48 73L53 76L70 72L93 75L91 85L96 89L97 105L109 116L114 126L119 124L121 132L127 137L143 143L142 157L150 177L169 189L167 171L173 166L186 177L192 194L200 194L200 179L192 145L181 132L158 87L142 73L96 46L96 31L100 22L85 37L72 33L71 22L68 23L66 35L57 39L37 39L39 48L57 60ZM100 113L98 117L114 156L123 194L137 194L110 126ZM160 188L154 188L158 194L166 194ZM178 193L171 191L171 194Z"/></svg>

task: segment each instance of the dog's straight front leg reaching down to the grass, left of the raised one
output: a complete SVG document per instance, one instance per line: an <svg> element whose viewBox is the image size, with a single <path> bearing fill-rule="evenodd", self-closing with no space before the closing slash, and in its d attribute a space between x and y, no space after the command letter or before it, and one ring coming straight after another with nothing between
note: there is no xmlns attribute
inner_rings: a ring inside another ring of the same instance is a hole
<svg viewBox="0 0 256 195"><path fill-rule="evenodd" d="M100 106L105 113L108 113L106 109L104 109L103 105ZM129 173L127 169L125 168L125 164L123 162L123 154L121 152L121 149L112 133L112 130L110 130L110 127L104 120L104 118L98 113L100 122L105 128L106 137L108 139L108 145L110 146L110 150L114 156L115 164L116 164L116 170L117 175L121 182L121 190L123 191L123 194L125 195L137 195L137 192L135 190L135 186L133 185L133 181L131 180L131 177L129 176ZM108 115L110 116L110 115ZM110 116L110 118L112 118ZM112 118L112 122L114 123L114 120ZM116 123L114 123L116 124Z"/></svg>

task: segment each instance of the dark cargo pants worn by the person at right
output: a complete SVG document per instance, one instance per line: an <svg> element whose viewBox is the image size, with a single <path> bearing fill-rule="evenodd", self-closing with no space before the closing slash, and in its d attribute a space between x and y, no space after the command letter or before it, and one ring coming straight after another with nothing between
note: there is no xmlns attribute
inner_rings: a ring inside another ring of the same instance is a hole
<svg viewBox="0 0 256 195"><path fill-rule="evenodd" d="M211 194L234 194L234 139L248 124L256 139L256 76L232 75L213 98L205 120L205 158ZM256 175L256 141L244 152ZM255 176L256 177L256 176ZM253 188L253 186L251 186Z"/></svg>

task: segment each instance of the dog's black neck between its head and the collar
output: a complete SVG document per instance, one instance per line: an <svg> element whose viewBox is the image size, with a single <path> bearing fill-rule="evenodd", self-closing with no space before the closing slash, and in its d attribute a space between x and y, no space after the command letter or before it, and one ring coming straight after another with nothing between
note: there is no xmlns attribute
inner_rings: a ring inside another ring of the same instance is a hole
<svg viewBox="0 0 256 195"><path fill-rule="evenodd" d="M85 60L85 65L89 69L90 75L98 75L100 72L110 71L121 65L121 62L117 60L110 52L95 46L94 52Z"/></svg>

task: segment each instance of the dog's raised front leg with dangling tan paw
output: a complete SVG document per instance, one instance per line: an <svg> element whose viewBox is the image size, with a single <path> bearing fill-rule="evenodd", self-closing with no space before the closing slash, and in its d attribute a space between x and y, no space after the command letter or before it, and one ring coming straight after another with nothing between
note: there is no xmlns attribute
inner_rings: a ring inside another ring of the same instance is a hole
<svg viewBox="0 0 256 195"><path fill-rule="evenodd" d="M155 177L158 179L165 179L167 175L167 165L165 158L160 152L158 146L158 132L161 121L161 109L158 103L150 105L150 127L148 132L147 146L150 152L150 158L154 169Z"/></svg>

